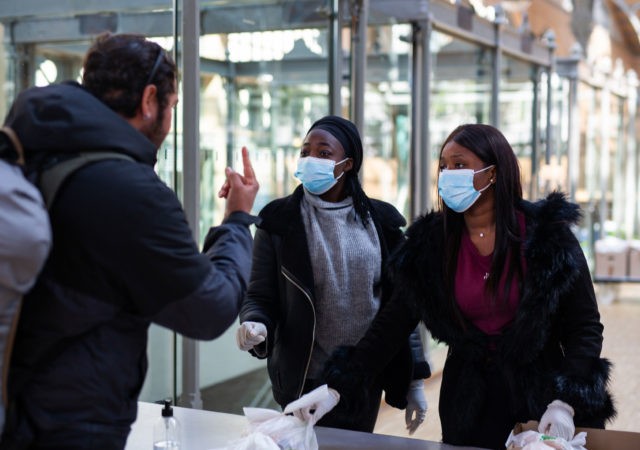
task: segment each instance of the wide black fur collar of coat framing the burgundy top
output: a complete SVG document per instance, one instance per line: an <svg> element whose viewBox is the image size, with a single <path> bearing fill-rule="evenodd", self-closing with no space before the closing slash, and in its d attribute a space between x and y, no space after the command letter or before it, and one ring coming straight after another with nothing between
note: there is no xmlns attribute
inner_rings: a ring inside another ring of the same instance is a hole
<svg viewBox="0 0 640 450"><path fill-rule="evenodd" d="M577 205L560 193L531 203L522 201L526 238L525 282L517 316L505 330L500 353L509 360L534 359L543 349L562 295L570 291L584 264L584 256L571 226L580 219ZM443 288L443 217L431 212L408 230L408 241L394 255L391 273L398 295L405 298L424 320L433 337L449 346L464 346L473 357L486 354L487 337L469 321L456 319L459 312L445 299Z"/></svg>

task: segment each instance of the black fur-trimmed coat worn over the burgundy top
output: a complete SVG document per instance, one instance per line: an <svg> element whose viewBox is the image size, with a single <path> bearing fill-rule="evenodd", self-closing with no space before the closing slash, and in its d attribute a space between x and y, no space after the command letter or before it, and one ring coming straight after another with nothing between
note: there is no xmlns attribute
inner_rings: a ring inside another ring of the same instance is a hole
<svg viewBox="0 0 640 450"><path fill-rule="evenodd" d="M600 357L603 326L584 254L570 228L579 209L558 193L525 201L520 209L526 222L525 279L516 317L495 350L488 350L486 335L471 322L454 318L457 306L447 300L443 283L443 217L427 214L407 230L407 241L391 260L394 299L358 345L342 349L327 366L329 384L345 403L393 354L394 342L406 339L422 320L449 346L443 385L451 388L440 396L443 436L464 434L477 420L486 391L474 374L488 358L509 380L518 420L539 420L554 399L573 406L576 426L603 427L614 416L607 389L610 363Z"/></svg>

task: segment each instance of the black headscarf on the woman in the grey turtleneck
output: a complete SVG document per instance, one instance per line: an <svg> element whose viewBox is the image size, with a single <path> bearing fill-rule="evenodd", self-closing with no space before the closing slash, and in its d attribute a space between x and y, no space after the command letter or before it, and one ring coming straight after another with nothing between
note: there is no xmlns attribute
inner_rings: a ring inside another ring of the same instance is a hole
<svg viewBox="0 0 640 450"><path fill-rule="evenodd" d="M339 116L325 116L317 120L311 125L307 134L316 128L324 130L336 138L344 149L344 155L353 159L353 169L345 174L345 189L347 195L353 198L353 207L356 210L356 214L360 217L362 224L366 226L369 221L369 199L358 179L358 172L362 167L363 154L362 140L360 139L358 128L353 122Z"/></svg>

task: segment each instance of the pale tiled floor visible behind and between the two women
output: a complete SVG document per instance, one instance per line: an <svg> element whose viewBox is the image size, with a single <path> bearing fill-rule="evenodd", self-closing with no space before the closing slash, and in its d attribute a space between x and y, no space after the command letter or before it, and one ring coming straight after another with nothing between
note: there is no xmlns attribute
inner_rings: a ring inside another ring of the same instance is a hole
<svg viewBox="0 0 640 450"><path fill-rule="evenodd" d="M616 289L616 300L600 305L605 327L602 356L614 364L611 390L618 409L617 418L607 428L640 432L640 283L623 284ZM437 365L442 361L443 351L436 351L433 356ZM425 386L429 403L427 418L412 437L440 440L439 391L440 376L437 374ZM407 437L404 412L383 403L375 432Z"/></svg>

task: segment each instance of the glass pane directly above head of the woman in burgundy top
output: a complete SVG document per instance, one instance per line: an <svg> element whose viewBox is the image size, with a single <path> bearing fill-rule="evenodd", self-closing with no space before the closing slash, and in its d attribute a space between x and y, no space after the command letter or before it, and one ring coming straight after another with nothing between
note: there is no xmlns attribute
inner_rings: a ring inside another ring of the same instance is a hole
<svg viewBox="0 0 640 450"><path fill-rule="evenodd" d="M491 122L493 53L479 45L433 32L431 89L432 198L437 198L438 155L446 137L464 123Z"/></svg>

